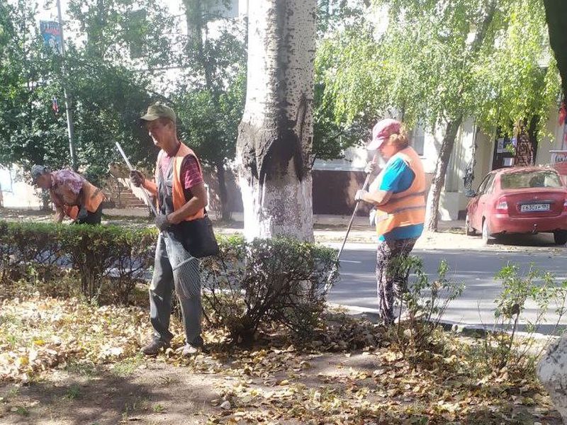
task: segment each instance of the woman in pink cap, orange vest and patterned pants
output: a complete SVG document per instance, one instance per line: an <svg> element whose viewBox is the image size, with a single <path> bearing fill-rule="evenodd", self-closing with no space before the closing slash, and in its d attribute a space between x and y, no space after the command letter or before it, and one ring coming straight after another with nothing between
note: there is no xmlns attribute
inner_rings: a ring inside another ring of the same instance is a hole
<svg viewBox="0 0 567 425"><path fill-rule="evenodd" d="M378 310L383 323L391 324L395 319L395 296L399 297L408 283L406 273L396 265L408 258L423 232L425 173L420 157L410 147L407 132L397 120L379 121L367 149L378 149L387 163L369 191L358 191L355 199L374 205L371 221L376 223L378 234ZM366 171L372 172L375 167L371 162Z"/></svg>

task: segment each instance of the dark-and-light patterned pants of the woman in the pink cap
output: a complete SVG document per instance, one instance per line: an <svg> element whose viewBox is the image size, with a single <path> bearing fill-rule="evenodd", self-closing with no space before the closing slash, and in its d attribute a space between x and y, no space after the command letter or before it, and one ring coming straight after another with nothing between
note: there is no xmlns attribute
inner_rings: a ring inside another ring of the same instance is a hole
<svg viewBox="0 0 567 425"><path fill-rule="evenodd" d="M417 238L378 242L376 250L376 280L378 282L378 312L386 324L394 322L394 302L405 291L408 275L399 267L407 259Z"/></svg>

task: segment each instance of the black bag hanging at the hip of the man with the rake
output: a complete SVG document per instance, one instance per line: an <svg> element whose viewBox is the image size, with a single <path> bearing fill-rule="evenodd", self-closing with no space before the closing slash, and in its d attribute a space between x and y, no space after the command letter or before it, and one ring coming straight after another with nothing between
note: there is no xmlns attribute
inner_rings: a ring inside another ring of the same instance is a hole
<svg viewBox="0 0 567 425"><path fill-rule="evenodd" d="M218 255L218 244L213 232L213 222L207 213L197 220L183 221L173 225L174 232L181 239L184 248L192 256L201 259L206 256Z"/></svg>

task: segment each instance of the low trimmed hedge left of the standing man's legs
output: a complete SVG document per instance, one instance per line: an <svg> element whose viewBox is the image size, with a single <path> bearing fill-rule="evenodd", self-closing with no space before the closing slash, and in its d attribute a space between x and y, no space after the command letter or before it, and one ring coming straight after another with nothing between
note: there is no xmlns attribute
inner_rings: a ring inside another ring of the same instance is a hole
<svg viewBox="0 0 567 425"><path fill-rule="evenodd" d="M27 276L30 266L33 278L47 281L59 276L55 266L71 268L89 299L104 290L124 303L153 266L156 234L116 226L0 222L0 281Z"/></svg>

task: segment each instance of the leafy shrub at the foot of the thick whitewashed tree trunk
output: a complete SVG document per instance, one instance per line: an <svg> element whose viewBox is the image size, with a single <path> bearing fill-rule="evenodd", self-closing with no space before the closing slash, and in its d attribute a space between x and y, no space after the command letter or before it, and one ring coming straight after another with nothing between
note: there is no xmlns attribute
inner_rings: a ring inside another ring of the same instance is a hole
<svg viewBox="0 0 567 425"><path fill-rule="evenodd" d="M325 285L335 251L293 239L220 239L218 258L203 261L203 300L215 325L251 341L262 323L310 335L325 308ZM335 276L336 279L336 276Z"/></svg>

